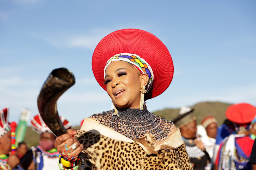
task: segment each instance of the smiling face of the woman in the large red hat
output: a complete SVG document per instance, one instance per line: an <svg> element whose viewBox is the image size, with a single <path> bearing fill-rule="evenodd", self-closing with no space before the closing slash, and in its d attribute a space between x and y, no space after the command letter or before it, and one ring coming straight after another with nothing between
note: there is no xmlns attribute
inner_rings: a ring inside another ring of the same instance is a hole
<svg viewBox="0 0 256 170"><path fill-rule="evenodd" d="M105 71L105 84L115 106L140 108L140 89L144 85L142 77L130 63L114 61L109 64Z"/></svg>

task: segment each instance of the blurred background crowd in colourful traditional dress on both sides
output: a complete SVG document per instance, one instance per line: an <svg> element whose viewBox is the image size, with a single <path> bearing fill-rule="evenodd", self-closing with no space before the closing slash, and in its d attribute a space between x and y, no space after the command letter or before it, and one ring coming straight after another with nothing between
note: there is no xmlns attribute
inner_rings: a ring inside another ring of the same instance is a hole
<svg viewBox="0 0 256 170"><path fill-rule="evenodd" d="M226 170L256 168L256 108L239 103L228 107L226 120L220 126L213 116L197 123L194 109L183 106L172 121L180 129L186 150L195 170ZM58 169L59 152L54 147L56 136L45 125L40 115L31 118L32 129L40 134L39 145L28 148L19 142L16 153L11 153L9 108L1 110L0 165L2 169ZM66 129L71 124L61 121ZM83 120L81 121L81 125Z"/></svg>

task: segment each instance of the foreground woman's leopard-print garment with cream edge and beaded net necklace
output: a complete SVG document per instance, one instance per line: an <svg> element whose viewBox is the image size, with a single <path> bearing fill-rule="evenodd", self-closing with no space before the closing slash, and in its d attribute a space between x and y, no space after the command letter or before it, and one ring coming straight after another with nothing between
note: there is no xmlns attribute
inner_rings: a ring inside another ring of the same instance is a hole
<svg viewBox="0 0 256 170"><path fill-rule="evenodd" d="M172 122L140 109L114 110L86 118L76 135L94 169L192 169L180 130ZM140 125L139 125L140 124ZM91 140L90 140L91 139ZM156 140L162 140L156 145ZM122 158L122 159L121 159ZM120 160L118 160L120 159ZM81 166L83 168L83 165Z"/></svg>

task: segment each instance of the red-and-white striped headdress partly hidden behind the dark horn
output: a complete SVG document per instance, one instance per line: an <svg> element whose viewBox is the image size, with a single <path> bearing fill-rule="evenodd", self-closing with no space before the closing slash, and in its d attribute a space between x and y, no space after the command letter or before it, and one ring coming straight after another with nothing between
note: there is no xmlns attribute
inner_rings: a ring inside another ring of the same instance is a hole
<svg viewBox="0 0 256 170"><path fill-rule="evenodd" d="M67 119L65 119L65 117L60 117L60 120L63 123L65 129L70 129L71 128L71 124L69 123L69 121ZM36 116L31 118L31 127L32 127L33 131L35 131L39 134L44 133L44 132L54 134L48 128L48 126L44 123L44 121L43 121L43 119L41 118L40 115L36 115Z"/></svg>

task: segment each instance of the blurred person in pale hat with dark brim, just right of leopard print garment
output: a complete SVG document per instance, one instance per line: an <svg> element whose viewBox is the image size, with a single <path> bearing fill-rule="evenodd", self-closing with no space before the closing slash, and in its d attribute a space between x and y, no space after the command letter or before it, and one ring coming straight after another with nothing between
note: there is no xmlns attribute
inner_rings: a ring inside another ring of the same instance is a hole
<svg viewBox="0 0 256 170"><path fill-rule="evenodd" d="M209 167L210 156L206 152L202 141L196 138L197 122L194 109L187 106L181 107L179 116L173 122L181 131L194 170L204 170Z"/></svg>

